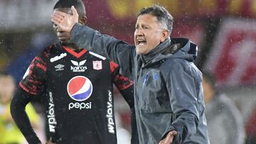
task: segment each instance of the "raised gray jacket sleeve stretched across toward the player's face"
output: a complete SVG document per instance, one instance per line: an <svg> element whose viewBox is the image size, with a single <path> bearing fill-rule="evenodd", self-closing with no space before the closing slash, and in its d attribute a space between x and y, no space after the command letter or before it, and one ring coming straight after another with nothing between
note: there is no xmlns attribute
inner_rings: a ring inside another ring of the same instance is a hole
<svg viewBox="0 0 256 144"><path fill-rule="evenodd" d="M87 26L75 24L71 34L71 41L81 48L86 48L99 55L104 55L120 66L120 73L126 77L132 76L134 67L135 46L109 35L102 35Z"/></svg>

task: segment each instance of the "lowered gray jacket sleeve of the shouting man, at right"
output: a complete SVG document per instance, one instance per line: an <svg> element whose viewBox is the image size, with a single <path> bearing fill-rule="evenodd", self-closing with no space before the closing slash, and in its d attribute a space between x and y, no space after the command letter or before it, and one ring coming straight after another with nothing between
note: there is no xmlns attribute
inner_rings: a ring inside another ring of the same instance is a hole
<svg viewBox="0 0 256 144"><path fill-rule="evenodd" d="M175 130L178 135L174 140L183 143L183 140L196 133L199 123L198 95L200 89L199 79L193 74L193 67L184 67L182 63L173 62L169 74L166 76L166 86L169 93L173 121L167 126L166 132ZM198 86L199 85L199 86Z"/></svg>

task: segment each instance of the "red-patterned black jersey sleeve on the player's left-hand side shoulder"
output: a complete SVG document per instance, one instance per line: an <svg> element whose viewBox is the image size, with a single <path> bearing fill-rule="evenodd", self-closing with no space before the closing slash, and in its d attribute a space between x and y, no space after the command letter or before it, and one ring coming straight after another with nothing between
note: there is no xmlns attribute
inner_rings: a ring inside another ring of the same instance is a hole
<svg viewBox="0 0 256 144"><path fill-rule="evenodd" d="M35 57L26 70L19 87L29 94L37 95L46 83L46 62L41 55Z"/></svg>

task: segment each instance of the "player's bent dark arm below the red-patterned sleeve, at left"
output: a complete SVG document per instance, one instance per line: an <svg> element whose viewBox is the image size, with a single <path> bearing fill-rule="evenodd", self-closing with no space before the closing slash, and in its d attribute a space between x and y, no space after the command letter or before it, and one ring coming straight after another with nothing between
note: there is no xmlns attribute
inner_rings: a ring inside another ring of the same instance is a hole
<svg viewBox="0 0 256 144"><path fill-rule="evenodd" d="M26 105L31 101L31 94L18 88L11 100L11 116L28 143L41 143L33 131L28 115L25 111Z"/></svg>

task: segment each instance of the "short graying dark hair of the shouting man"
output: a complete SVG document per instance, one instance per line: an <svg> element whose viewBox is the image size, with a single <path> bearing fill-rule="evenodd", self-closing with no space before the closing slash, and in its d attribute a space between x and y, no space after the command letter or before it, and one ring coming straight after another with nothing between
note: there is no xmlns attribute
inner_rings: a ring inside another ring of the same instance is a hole
<svg viewBox="0 0 256 144"><path fill-rule="evenodd" d="M154 5L148 8L143 8L141 11L139 11L137 17L144 14L151 14L152 16L156 16L157 20L160 23L164 24L171 34L171 31L173 29L174 17L171 16L171 13L169 13L169 11L167 11L163 6Z"/></svg>

